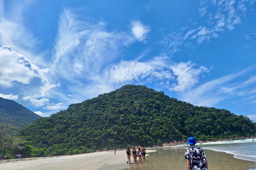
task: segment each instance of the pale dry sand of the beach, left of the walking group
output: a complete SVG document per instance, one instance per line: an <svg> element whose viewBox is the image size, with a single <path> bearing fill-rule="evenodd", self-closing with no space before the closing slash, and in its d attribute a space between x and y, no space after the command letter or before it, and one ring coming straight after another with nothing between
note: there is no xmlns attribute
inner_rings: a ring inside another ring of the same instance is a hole
<svg viewBox="0 0 256 170"><path fill-rule="evenodd" d="M155 150L147 150L147 152ZM25 158L0 161L0 170L70 170L70 169L124 169L132 166L126 164L127 156L125 150L114 150L94 152L89 154L42 157L42 158ZM131 157L131 163L133 159Z"/></svg>

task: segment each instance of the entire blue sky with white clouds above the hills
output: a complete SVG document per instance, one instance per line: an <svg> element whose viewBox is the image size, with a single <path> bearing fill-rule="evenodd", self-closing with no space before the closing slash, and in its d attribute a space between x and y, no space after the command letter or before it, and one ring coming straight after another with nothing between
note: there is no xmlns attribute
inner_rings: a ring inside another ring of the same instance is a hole
<svg viewBox="0 0 256 170"><path fill-rule="evenodd" d="M125 84L256 122L255 0L0 1L0 97L43 117Z"/></svg>

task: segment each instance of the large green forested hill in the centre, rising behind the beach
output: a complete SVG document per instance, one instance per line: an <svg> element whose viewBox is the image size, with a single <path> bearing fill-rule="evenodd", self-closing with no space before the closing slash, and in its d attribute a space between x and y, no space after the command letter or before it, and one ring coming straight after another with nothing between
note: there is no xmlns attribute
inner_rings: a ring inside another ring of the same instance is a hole
<svg viewBox="0 0 256 170"><path fill-rule="evenodd" d="M173 140L220 139L255 134L255 124L225 109L197 107L148 89L126 85L42 117L22 131L47 154L154 145Z"/></svg>

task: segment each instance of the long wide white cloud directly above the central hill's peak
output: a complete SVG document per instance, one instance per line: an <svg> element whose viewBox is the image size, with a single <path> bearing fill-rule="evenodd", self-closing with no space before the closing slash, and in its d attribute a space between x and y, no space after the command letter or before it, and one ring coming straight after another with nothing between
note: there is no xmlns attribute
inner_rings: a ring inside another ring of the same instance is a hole
<svg viewBox="0 0 256 170"><path fill-rule="evenodd" d="M110 84L127 84L132 81L156 82L170 91L185 92L199 82L209 70L194 63L170 63L166 57L155 57L148 62L122 61L105 70Z"/></svg>

